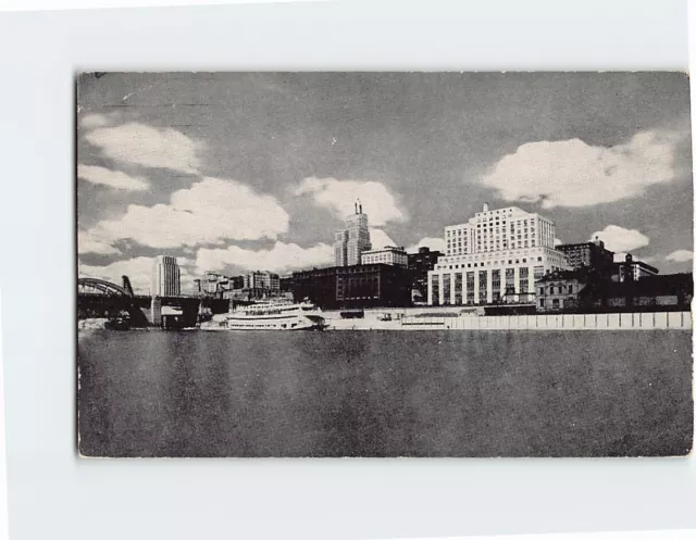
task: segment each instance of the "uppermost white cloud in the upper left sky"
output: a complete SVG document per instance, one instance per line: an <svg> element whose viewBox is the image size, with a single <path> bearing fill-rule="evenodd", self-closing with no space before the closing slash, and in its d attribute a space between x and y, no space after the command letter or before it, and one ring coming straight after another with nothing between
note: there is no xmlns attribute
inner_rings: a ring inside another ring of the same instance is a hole
<svg viewBox="0 0 696 540"><path fill-rule="evenodd" d="M104 155L122 163L152 168L169 168L197 174L202 143L172 128L157 128L138 123L99 127L85 138Z"/></svg>

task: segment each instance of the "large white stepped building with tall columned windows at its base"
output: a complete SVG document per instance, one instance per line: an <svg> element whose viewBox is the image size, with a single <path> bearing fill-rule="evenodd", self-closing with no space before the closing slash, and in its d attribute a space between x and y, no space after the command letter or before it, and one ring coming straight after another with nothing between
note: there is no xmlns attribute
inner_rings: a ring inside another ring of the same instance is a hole
<svg viewBox="0 0 696 540"><path fill-rule="evenodd" d="M468 223L445 227L446 251L428 272L427 303L533 301L537 279L571 268L555 237L554 222L544 216L484 204Z"/></svg>

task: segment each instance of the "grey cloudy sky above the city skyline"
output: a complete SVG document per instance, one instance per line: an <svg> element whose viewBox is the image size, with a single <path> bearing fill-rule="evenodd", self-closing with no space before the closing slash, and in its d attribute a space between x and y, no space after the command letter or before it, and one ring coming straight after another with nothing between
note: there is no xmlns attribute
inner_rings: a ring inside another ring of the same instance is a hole
<svg viewBox="0 0 696 540"><path fill-rule="evenodd" d="M488 202L691 272L691 149L681 73L83 74L78 273L331 265L356 198L374 247L442 249Z"/></svg>

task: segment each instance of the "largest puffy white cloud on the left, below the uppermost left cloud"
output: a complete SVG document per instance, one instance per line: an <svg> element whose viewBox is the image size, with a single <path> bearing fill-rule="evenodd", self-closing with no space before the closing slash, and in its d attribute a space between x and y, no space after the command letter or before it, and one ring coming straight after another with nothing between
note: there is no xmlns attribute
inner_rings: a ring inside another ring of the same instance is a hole
<svg viewBox="0 0 696 540"><path fill-rule="evenodd" d="M287 231L288 225L289 216L275 198L259 194L235 180L204 178L175 191L169 204L130 204L125 215L101 221L88 234L92 240L110 246L117 240L133 240L167 249L225 240L275 239Z"/></svg>

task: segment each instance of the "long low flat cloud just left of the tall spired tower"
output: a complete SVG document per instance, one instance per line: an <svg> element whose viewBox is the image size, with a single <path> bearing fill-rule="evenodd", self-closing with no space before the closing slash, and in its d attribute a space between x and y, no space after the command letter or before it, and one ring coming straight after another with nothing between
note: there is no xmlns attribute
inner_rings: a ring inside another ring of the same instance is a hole
<svg viewBox="0 0 696 540"><path fill-rule="evenodd" d="M297 243L275 242L268 250L249 250L238 246L227 249L201 248L196 258L198 273L222 271L226 266L256 271L287 272L289 269L327 266L334 262L334 250L325 243L301 248Z"/></svg>

